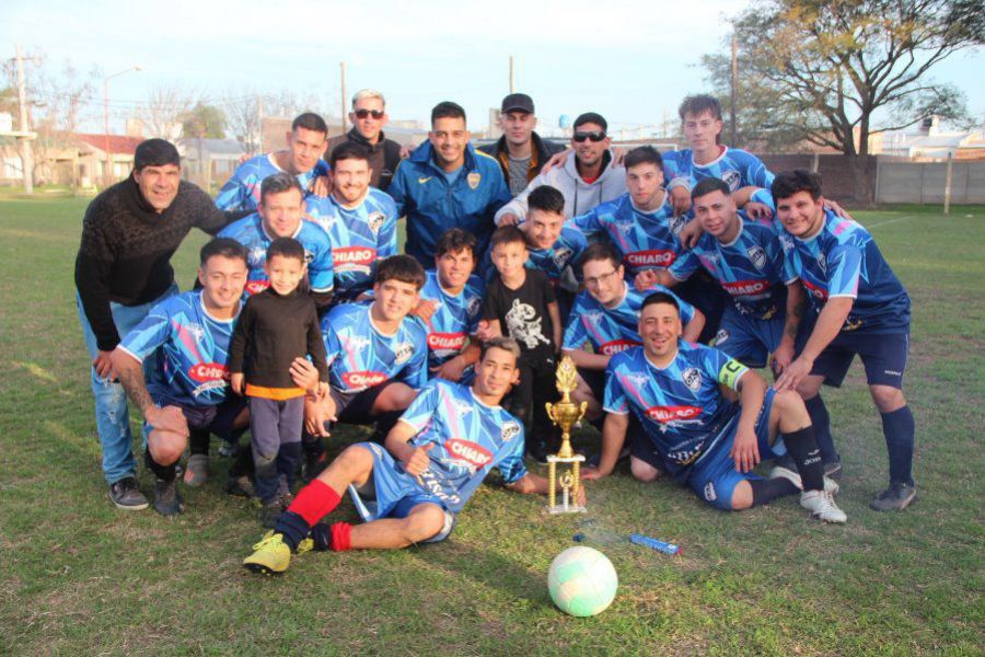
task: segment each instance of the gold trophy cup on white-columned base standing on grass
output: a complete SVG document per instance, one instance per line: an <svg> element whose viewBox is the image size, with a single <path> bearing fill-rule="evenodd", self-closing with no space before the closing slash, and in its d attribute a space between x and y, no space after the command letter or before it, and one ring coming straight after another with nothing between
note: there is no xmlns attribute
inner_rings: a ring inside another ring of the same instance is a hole
<svg viewBox="0 0 985 657"><path fill-rule="evenodd" d="M578 491L581 487L579 470L584 457L576 454L571 450L571 427L583 416L588 402L581 402L579 406L571 401L571 393L577 385L578 370L575 361L568 356L561 358L557 366L557 391L561 393L558 403L547 403L547 415L561 429L561 448L556 454L547 457L547 512L548 514L578 514L584 511L584 507L578 504ZM557 465L569 465L560 477L557 476ZM561 487L561 503L557 504L557 484Z"/></svg>

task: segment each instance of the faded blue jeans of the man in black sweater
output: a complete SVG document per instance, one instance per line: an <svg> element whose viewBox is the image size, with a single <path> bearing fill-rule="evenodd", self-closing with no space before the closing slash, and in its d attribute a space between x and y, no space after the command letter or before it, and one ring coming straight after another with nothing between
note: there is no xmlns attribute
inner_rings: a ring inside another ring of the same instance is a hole
<svg viewBox="0 0 985 657"><path fill-rule="evenodd" d="M150 312L151 308L163 301L164 299L176 295L177 285L172 285L166 292L159 298L143 303L141 306L123 306L120 303L109 303L109 310L113 312L113 322L116 324L116 331L120 337L129 333L143 318ZM82 309L82 300L76 292L76 307L79 309L79 322L82 324L82 337L85 339L85 348L89 350L89 357L95 358L99 347L96 347L95 334L89 324L89 318ZM147 368L153 364L153 358L143 360L144 377ZM103 448L103 475L111 484L115 484L119 480L128 476L137 475L137 462L134 460L134 451L131 445L134 442L134 434L130 431L130 415L127 408L127 393L124 391L119 381L111 381L103 379L96 374L95 368L90 368L92 394L95 397L96 412L96 429L100 433L100 443Z"/></svg>

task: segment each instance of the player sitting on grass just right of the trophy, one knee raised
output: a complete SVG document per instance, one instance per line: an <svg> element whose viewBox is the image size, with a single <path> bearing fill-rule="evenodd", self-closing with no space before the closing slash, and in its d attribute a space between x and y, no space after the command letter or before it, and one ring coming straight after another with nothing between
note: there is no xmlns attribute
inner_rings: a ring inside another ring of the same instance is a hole
<svg viewBox="0 0 985 657"><path fill-rule="evenodd" d="M583 479L607 475L629 427L630 468L641 481L670 472L723 510L748 509L801 491L800 505L821 520L845 522L825 480L814 429L800 396L776 392L741 362L712 347L682 342L677 301L665 292L644 300L642 347L612 357L605 370L602 458ZM739 393L739 404L723 389ZM777 441L783 434L783 441ZM774 468L772 479L751 471L786 447L797 471Z"/></svg>

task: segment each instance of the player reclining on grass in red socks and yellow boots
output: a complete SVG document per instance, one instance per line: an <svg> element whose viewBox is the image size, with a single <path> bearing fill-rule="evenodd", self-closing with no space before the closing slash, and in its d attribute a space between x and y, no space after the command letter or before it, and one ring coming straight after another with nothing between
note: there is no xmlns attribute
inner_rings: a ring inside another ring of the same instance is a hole
<svg viewBox="0 0 985 657"><path fill-rule="evenodd" d="M523 425L499 406L517 382L519 358L515 341L497 337L483 346L471 387L430 381L386 436L385 449L373 442L346 448L298 494L243 565L282 573L291 552L444 540L455 514L493 468L511 491L546 494L547 480L523 464ZM366 523L321 522L346 489Z"/></svg>

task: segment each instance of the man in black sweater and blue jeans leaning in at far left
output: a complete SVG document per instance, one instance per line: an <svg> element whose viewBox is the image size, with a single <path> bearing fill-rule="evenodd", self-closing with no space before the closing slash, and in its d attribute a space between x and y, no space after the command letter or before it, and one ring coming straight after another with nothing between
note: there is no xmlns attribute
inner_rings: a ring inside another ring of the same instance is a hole
<svg viewBox="0 0 985 657"><path fill-rule="evenodd" d="M147 508L147 499L137 489L127 397L109 354L120 335L177 292L171 256L192 228L215 234L234 218L216 209L209 195L182 181L181 174L172 143L141 142L132 176L89 204L76 257L76 300L92 358L103 473L109 498L121 509Z"/></svg>

